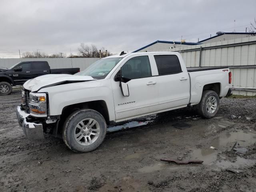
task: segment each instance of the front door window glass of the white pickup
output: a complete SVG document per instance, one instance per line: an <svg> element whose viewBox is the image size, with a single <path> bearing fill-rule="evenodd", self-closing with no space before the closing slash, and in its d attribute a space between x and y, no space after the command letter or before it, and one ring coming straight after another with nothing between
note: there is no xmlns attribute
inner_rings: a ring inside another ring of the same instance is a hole
<svg viewBox="0 0 256 192"><path fill-rule="evenodd" d="M122 77L138 79L151 77L151 68L148 56L138 56L128 60L121 68Z"/></svg>

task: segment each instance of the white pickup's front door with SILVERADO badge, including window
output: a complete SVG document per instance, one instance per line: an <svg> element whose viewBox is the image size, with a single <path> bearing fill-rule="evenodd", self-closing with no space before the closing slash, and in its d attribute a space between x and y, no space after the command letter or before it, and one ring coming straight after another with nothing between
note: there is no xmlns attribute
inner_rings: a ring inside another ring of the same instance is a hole
<svg viewBox="0 0 256 192"><path fill-rule="evenodd" d="M112 78L116 121L156 112L158 84L151 68L148 56L135 56L124 63L121 72L128 80L128 97L123 96L120 82Z"/></svg>

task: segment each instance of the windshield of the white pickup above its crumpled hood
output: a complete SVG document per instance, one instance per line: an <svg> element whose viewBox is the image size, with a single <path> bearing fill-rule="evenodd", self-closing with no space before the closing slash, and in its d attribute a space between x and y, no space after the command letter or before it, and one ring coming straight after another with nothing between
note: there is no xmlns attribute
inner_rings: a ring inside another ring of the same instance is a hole
<svg viewBox="0 0 256 192"><path fill-rule="evenodd" d="M100 59L91 64L86 70L78 72L75 75L91 76L94 79L104 79L121 59L122 57Z"/></svg>

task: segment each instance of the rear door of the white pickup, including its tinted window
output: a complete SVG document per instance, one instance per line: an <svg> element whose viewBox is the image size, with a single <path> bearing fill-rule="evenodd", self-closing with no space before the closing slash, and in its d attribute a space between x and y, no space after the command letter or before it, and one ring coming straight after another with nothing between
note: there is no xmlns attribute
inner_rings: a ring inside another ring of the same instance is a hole
<svg viewBox="0 0 256 192"><path fill-rule="evenodd" d="M154 54L154 59L158 69L159 109L186 106L190 98L189 76L185 66L180 65L178 55Z"/></svg>

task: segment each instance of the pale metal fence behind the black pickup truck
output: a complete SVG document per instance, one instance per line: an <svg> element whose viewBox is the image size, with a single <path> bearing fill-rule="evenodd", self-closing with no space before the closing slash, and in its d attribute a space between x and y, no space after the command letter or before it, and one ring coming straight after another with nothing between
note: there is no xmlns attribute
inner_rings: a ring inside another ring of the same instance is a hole
<svg viewBox="0 0 256 192"><path fill-rule="evenodd" d="M100 58L12 58L0 59L0 66L9 68L20 61L47 61L52 69L80 68L82 71L99 59Z"/></svg>

